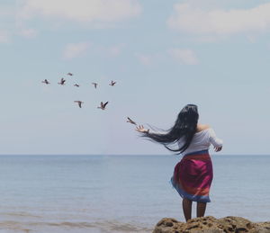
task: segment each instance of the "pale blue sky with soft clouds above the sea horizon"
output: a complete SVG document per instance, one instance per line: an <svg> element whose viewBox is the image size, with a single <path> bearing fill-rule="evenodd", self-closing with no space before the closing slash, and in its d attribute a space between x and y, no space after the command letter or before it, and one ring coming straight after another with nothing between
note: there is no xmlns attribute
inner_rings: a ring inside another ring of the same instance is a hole
<svg viewBox="0 0 270 233"><path fill-rule="evenodd" d="M0 155L171 155L126 118L167 130L187 103L220 155L270 154L270 1L2 0L0 21Z"/></svg>

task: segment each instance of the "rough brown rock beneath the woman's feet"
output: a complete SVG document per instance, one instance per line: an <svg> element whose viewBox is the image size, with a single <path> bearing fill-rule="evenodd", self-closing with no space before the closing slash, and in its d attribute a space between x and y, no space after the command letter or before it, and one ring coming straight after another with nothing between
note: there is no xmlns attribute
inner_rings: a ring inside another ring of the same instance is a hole
<svg viewBox="0 0 270 233"><path fill-rule="evenodd" d="M240 217L202 217L186 223L175 219L162 219L157 222L153 233L270 233L270 221L255 223Z"/></svg>

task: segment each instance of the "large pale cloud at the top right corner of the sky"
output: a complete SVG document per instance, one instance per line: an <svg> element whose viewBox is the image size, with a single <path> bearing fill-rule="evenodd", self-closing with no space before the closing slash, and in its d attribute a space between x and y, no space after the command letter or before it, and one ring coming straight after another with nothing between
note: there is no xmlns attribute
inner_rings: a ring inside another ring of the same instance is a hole
<svg viewBox="0 0 270 233"><path fill-rule="evenodd" d="M206 10L190 4L175 4L168 19L169 27L201 35L227 36L236 33L260 32L270 29L270 4L250 9Z"/></svg>

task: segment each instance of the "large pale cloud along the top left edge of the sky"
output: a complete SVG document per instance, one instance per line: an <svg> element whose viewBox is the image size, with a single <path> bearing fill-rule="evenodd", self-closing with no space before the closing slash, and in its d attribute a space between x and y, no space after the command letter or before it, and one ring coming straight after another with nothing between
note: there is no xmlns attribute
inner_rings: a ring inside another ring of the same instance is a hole
<svg viewBox="0 0 270 233"><path fill-rule="evenodd" d="M36 15L76 22L118 22L137 16L137 0L24 0L21 17Z"/></svg>

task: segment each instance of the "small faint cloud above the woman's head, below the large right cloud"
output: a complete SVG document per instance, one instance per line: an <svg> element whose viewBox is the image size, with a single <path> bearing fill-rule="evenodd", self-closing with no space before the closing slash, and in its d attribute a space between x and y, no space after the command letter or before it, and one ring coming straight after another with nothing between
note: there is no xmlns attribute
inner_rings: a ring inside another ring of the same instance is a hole
<svg viewBox="0 0 270 233"><path fill-rule="evenodd" d="M184 65L196 65L199 63L198 58L191 49L169 49L168 53Z"/></svg>

